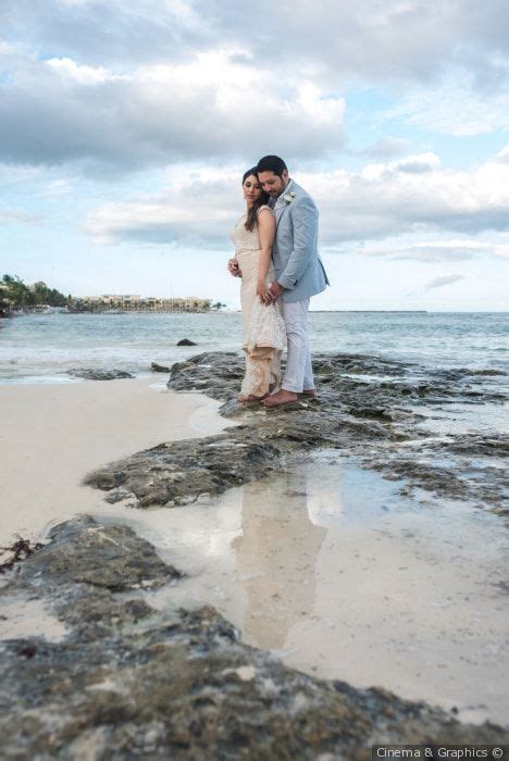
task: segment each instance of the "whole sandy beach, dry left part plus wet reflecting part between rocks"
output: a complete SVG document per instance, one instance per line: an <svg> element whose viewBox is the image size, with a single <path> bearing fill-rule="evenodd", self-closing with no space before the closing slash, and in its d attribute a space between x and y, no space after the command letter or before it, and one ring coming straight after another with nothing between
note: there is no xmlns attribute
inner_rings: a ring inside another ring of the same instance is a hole
<svg viewBox="0 0 509 761"><path fill-rule="evenodd" d="M187 574L147 592L160 609L213 604L247 644L358 687L507 723L505 540L495 515L405 499L331 452L285 475L169 510L109 504L82 485L105 462L232 421L150 379L0 387L2 544L77 513L128 523ZM381 509L382 508L382 509ZM45 628L12 611L2 637ZM61 634L46 622L49 637Z"/></svg>

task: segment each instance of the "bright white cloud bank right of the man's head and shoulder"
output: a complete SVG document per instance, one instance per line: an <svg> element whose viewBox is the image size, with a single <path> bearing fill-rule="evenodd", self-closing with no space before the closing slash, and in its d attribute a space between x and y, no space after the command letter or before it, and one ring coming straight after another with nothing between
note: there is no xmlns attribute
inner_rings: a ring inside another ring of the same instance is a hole
<svg viewBox="0 0 509 761"><path fill-rule="evenodd" d="M322 242L383 239L395 235L509 229L509 165L487 161L467 172L442 167L421 154L302 176L321 209Z"/></svg>

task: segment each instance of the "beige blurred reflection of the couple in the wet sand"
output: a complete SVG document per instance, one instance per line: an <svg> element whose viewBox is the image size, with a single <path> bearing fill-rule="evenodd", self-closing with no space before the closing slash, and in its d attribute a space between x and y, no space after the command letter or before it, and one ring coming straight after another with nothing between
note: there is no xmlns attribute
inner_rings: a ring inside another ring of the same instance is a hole
<svg viewBox="0 0 509 761"><path fill-rule="evenodd" d="M247 641L283 648L291 626L313 613L314 567L326 529L308 516L307 466L247 484L243 534L233 542L247 595Z"/></svg>

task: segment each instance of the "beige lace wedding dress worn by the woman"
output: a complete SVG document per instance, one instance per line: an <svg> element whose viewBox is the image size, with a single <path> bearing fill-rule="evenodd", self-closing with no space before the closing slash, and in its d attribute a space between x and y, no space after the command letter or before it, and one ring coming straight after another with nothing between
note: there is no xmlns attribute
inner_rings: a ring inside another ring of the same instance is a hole
<svg viewBox="0 0 509 761"><path fill-rule="evenodd" d="M260 207L262 209L270 207ZM270 210L272 213L272 210ZM257 296L258 262L260 238L258 226L252 230L245 227L246 214L232 230L235 255L243 273L240 304L244 322L244 351L246 352L246 375L240 392L245 397L261 398L276 391L281 383L281 354L286 347L285 323L278 301L264 304ZM274 279L272 263L265 283Z"/></svg>

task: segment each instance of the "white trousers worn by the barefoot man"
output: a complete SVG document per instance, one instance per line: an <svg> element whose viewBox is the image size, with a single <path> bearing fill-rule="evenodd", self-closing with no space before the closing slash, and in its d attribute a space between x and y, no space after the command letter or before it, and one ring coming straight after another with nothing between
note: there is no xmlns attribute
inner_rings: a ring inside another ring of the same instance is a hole
<svg viewBox="0 0 509 761"><path fill-rule="evenodd" d="M281 301L288 341L286 372L281 387L296 394L314 388L308 336L309 301Z"/></svg>

